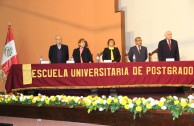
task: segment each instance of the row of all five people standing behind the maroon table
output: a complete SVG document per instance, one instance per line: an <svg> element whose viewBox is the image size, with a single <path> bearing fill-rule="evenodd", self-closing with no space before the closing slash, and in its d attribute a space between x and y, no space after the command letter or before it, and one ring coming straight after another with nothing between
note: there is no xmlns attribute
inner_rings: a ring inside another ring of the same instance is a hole
<svg viewBox="0 0 194 126"><path fill-rule="evenodd" d="M68 46L62 44L62 37L56 36L56 44L50 46L49 59L51 63L66 63L69 60ZM104 48L102 60L112 60L112 62L120 62L121 55L117 47L115 47L114 39L109 39L107 48ZM135 46L129 49L128 58L131 62L145 62L148 57L147 48L142 46L141 37L135 38ZM81 38L78 41L78 48L73 50L72 55L75 63L93 63L91 51L88 48L88 43ZM166 61L171 58L174 61L179 61L179 48L176 40L172 39L172 32L165 32L165 39L158 44L158 60Z"/></svg>

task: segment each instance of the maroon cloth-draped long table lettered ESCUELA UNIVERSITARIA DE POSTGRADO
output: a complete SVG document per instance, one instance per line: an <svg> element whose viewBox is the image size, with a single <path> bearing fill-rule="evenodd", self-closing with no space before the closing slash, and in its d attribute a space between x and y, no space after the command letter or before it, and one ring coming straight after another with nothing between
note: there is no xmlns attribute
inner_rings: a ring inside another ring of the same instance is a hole
<svg viewBox="0 0 194 126"><path fill-rule="evenodd" d="M15 64L6 91L125 87L191 87L194 61Z"/></svg>

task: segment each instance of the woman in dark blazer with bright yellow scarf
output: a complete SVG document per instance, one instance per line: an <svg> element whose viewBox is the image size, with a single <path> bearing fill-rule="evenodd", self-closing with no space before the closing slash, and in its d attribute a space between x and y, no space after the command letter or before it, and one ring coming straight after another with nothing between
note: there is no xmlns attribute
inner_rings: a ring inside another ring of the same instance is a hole
<svg viewBox="0 0 194 126"><path fill-rule="evenodd" d="M115 46L114 39L109 39L107 42L108 47L103 51L103 60L112 60L112 62L120 62L121 55L119 49ZM111 56L112 55L112 56Z"/></svg>

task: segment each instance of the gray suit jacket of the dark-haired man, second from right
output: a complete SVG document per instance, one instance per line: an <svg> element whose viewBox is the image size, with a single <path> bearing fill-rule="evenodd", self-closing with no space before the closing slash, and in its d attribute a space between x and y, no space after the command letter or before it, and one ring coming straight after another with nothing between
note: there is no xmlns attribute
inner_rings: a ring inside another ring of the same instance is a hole
<svg viewBox="0 0 194 126"><path fill-rule="evenodd" d="M135 55L136 61L135 62L145 62L148 54L147 54L147 48L144 46L141 46L140 53L136 46L133 46L129 49L128 58L131 62L133 61L133 55Z"/></svg>

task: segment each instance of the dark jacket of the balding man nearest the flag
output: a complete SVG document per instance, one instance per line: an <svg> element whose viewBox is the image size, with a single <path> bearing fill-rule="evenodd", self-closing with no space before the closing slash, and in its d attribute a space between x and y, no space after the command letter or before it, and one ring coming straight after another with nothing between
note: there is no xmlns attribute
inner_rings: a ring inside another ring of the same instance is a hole
<svg viewBox="0 0 194 126"><path fill-rule="evenodd" d="M57 45L52 45L50 46L49 49L49 60L51 63L57 63ZM62 63L66 63L66 61L69 59L69 50L67 45L61 45L61 50L62 50Z"/></svg>

